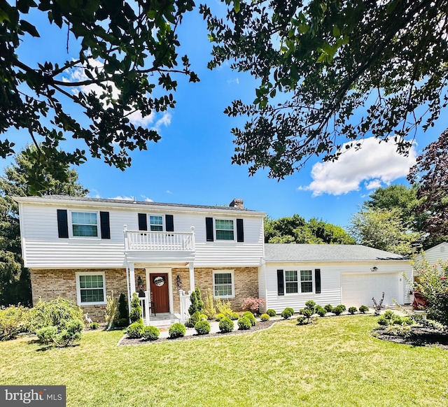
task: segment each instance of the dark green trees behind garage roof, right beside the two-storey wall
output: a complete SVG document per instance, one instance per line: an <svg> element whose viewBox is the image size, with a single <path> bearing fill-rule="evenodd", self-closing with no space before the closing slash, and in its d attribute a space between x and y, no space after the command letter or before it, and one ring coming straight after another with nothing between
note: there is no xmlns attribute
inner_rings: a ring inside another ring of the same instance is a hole
<svg viewBox="0 0 448 407"><path fill-rule="evenodd" d="M342 227L300 215L274 220L265 217L265 243L354 244L355 240Z"/></svg>

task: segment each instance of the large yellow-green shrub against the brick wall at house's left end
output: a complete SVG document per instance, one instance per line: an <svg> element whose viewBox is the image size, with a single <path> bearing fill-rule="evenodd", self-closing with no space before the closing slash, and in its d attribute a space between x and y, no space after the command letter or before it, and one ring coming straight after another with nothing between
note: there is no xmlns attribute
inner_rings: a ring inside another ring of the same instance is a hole
<svg viewBox="0 0 448 407"><path fill-rule="evenodd" d="M57 297L52 301L39 301L27 313L27 329L36 333L43 327L57 327L60 332L71 320L83 321L83 310L68 299Z"/></svg>

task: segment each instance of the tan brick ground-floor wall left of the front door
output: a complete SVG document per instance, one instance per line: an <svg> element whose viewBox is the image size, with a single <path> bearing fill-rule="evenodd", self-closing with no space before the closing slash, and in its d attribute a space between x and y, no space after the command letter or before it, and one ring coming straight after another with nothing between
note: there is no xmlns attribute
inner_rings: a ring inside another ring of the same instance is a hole
<svg viewBox="0 0 448 407"><path fill-rule="evenodd" d="M126 269L58 269L58 270L31 270L31 290L33 305L39 299L51 301L57 297L70 299L76 304L76 272L89 271L92 273L104 271L106 276L106 295L118 299L126 290ZM83 313L88 313L92 320L104 322L106 305L81 306Z"/></svg>

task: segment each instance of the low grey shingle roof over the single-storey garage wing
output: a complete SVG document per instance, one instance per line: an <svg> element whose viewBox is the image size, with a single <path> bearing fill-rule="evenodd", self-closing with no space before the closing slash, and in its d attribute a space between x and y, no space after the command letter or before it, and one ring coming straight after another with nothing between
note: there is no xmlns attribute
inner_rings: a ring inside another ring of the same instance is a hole
<svg viewBox="0 0 448 407"><path fill-rule="evenodd" d="M379 260L409 260L363 245L309 245L265 243L267 262L362 262Z"/></svg>

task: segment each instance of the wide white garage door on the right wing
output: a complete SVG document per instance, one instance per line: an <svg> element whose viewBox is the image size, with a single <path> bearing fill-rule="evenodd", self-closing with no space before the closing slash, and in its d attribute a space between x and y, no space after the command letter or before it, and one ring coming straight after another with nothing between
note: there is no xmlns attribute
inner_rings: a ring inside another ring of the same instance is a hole
<svg viewBox="0 0 448 407"><path fill-rule="evenodd" d="M383 305L393 305L393 299L402 302L402 274L342 274L342 304L345 306L372 306L372 297L379 301L384 292Z"/></svg>

